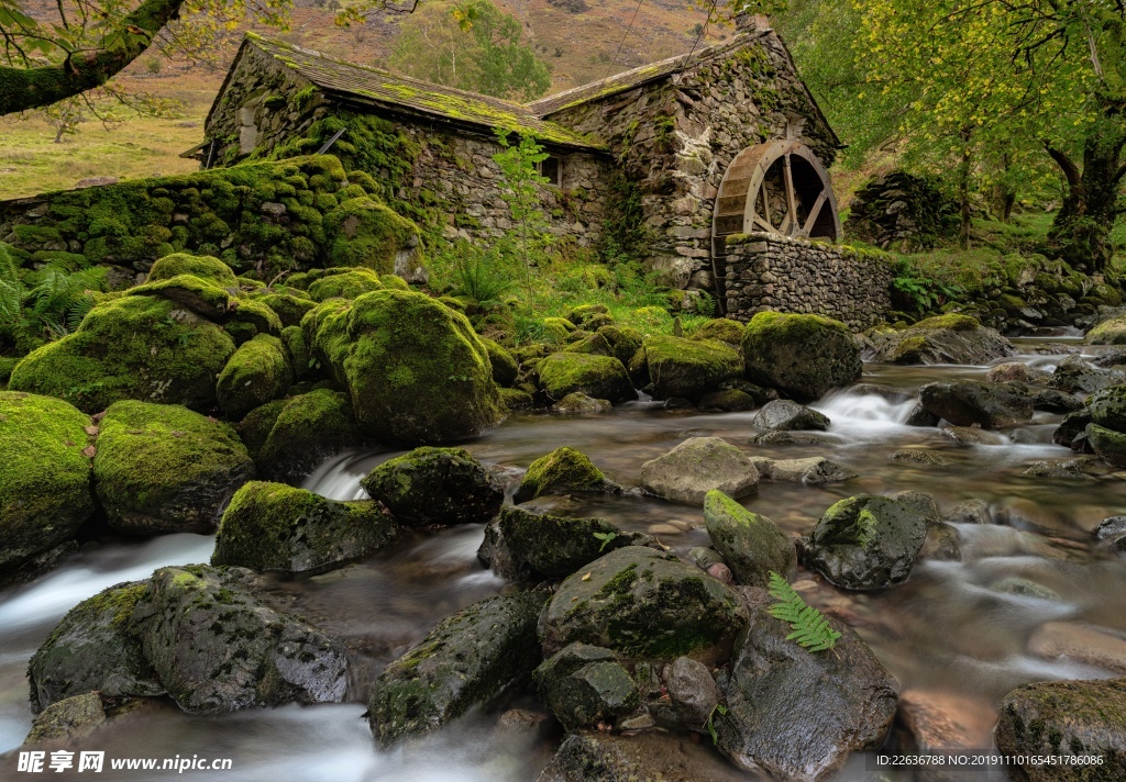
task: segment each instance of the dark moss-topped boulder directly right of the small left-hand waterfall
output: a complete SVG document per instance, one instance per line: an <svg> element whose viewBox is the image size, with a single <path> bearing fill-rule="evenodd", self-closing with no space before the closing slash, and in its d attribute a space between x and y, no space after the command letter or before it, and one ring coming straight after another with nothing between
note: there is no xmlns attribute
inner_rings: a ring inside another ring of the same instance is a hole
<svg viewBox="0 0 1126 782"><path fill-rule="evenodd" d="M409 527L483 524L504 502L503 485L462 448L415 448L360 482Z"/></svg>

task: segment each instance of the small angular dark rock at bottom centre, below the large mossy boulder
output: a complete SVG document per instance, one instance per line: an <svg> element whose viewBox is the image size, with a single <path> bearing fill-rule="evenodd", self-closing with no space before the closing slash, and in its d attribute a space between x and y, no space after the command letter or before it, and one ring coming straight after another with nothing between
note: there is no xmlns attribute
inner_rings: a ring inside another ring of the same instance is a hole
<svg viewBox="0 0 1126 782"><path fill-rule="evenodd" d="M570 644L533 672L539 698L564 730L614 722L641 702L637 685L614 653Z"/></svg>

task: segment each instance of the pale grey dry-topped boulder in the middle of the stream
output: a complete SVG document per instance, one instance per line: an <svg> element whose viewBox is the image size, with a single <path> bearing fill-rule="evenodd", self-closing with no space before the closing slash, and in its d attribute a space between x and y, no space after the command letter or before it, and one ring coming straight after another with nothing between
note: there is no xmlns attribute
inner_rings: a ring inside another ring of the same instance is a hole
<svg viewBox="0 0 1126 782"><path fill-rule="evenodd" d="M672 502L698 505L718 489L733 497L753 494L759 471L751 460L721 438L689 438L641 467L641 485Z"/></svg>

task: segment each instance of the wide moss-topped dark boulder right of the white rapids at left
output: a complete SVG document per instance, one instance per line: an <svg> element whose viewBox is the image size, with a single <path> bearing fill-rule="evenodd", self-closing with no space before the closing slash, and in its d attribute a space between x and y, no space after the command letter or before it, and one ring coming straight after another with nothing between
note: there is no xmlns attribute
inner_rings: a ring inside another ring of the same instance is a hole
<svg viewBox="0 0 1126 782"><path fill-rule="evenodd" d="M252 480L223 513L212 565L322 572L386 546L399 527L379 503L337 502L285 484Z"/></svg>

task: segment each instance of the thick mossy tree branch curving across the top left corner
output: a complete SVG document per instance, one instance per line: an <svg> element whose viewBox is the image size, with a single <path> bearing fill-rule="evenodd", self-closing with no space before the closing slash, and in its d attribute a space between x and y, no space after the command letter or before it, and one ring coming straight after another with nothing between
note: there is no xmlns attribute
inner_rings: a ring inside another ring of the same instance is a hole
<svg viewBox="0 0 1126 782"><path fill-rule="evenodd" d="M114 50L75 52L59 65L0 68L0 115L43 108L105 84L149 48L161 28L176 19L184 0L145 0L122 19L124 44Z"/></svg>

